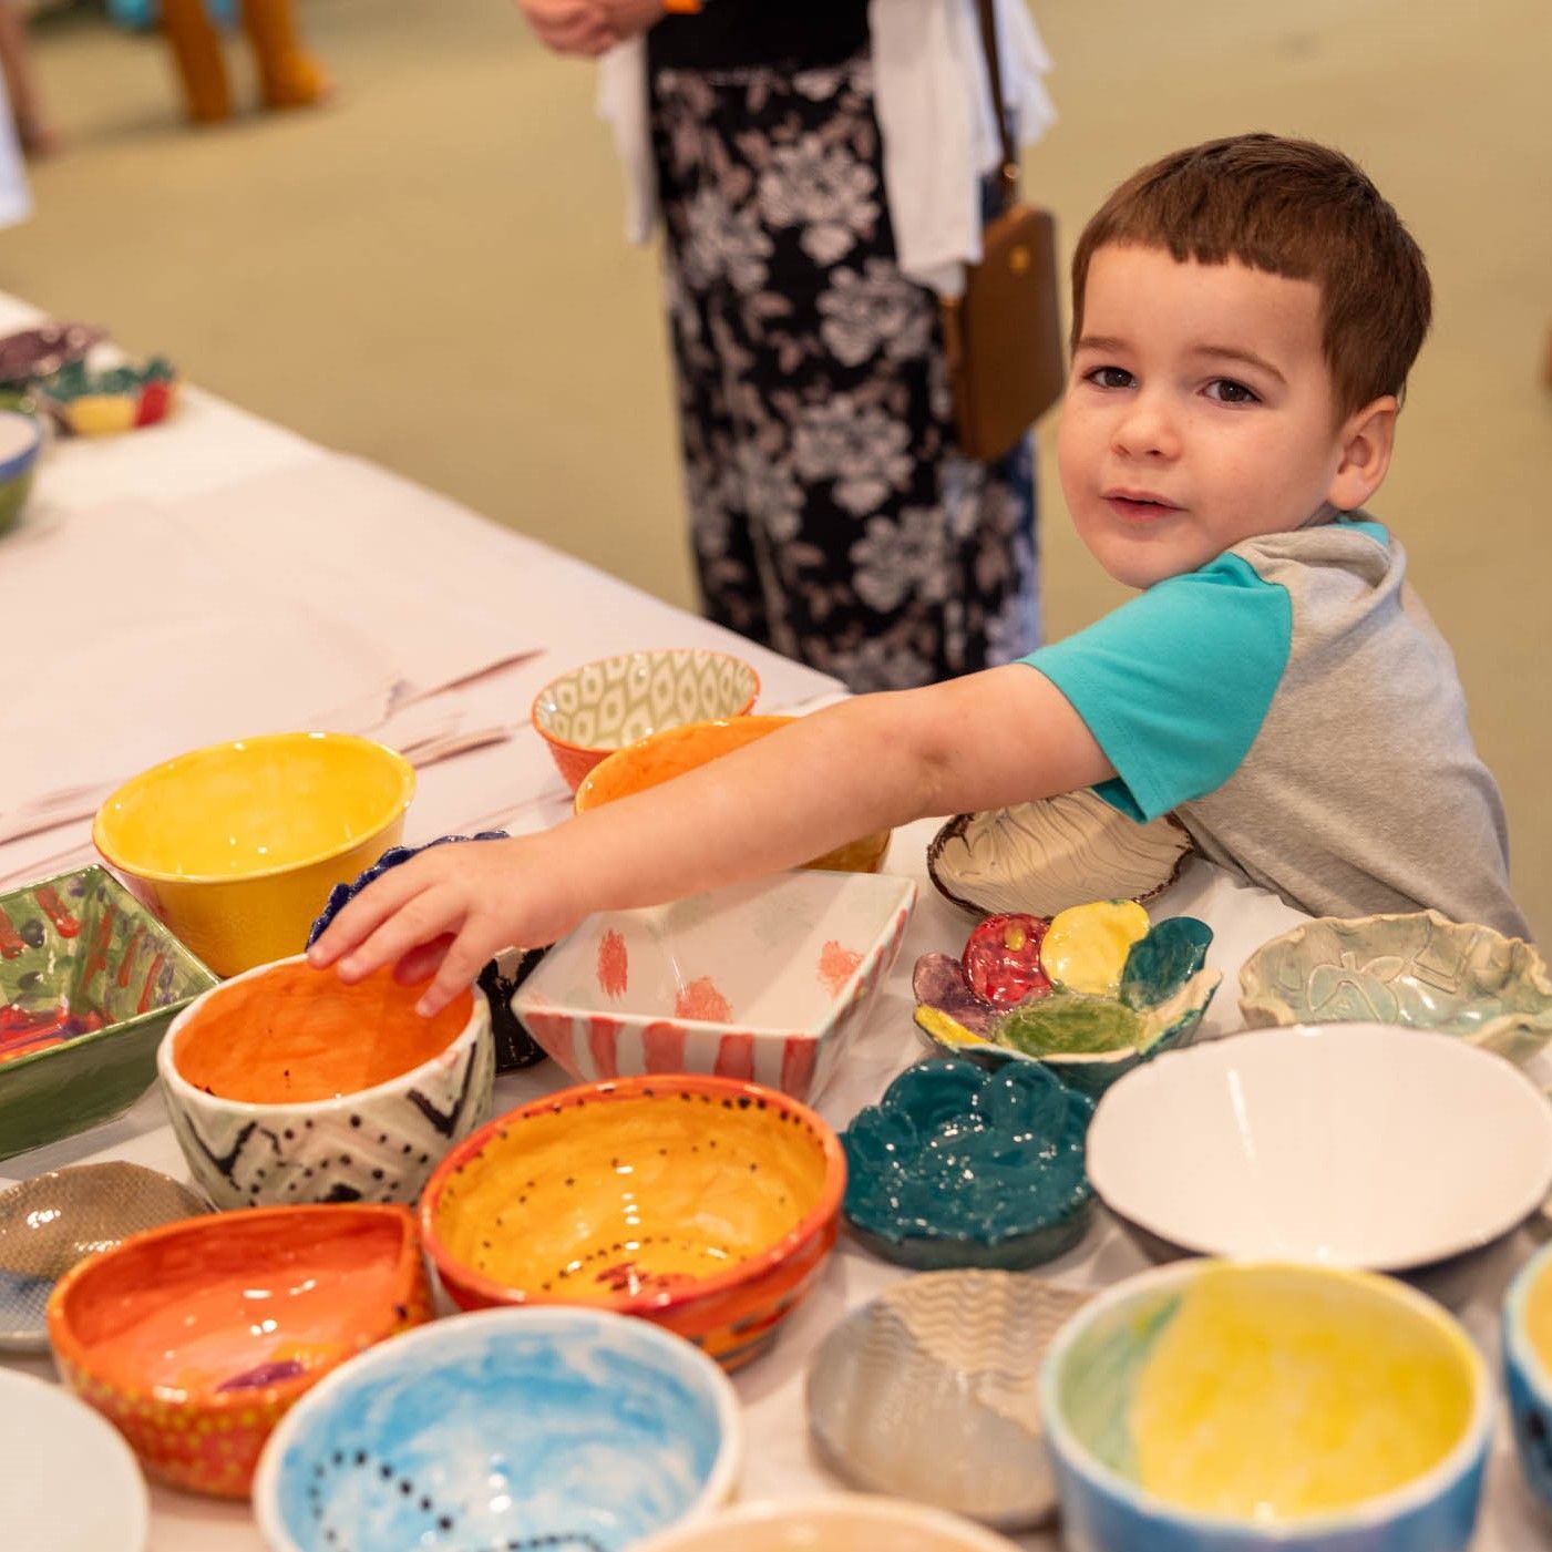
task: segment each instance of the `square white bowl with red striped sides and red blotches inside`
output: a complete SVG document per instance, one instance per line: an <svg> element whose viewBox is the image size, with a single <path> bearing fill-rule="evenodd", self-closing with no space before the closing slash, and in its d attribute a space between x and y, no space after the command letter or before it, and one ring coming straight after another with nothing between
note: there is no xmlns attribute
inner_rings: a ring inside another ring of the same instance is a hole
<svg viewBox="0 0 1552 1552"><path fill-rule="evenodd" d="M914 905L906 878L788 872L591 916L512 1010L577 1079L715 1072L810 1100L863 1027Z"/></svg>

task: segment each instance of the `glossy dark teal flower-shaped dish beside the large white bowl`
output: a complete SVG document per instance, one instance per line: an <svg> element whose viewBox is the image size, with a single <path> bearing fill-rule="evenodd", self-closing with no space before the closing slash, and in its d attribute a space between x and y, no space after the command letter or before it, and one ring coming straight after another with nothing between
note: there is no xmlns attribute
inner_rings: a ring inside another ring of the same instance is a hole
<svg viewBox="0 0 1552 1552"><path fill-rule="evenodd" d="M920 1062L846 1128L846 1223L902 1266L1035 1266L1088 1228L1094 1102L1044 1068Z"/></svg>

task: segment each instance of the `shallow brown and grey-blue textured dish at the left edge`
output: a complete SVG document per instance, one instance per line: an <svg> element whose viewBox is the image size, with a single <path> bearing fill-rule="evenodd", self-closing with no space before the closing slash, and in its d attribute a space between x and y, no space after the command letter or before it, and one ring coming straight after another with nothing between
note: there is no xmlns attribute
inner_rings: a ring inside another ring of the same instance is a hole
<svg viewBox="0 0 1552 1552"><path fill-rule="evenodd" d="M48 1296L76 1262L210 1204L141 1164L74 1164L0 1192L0 1350L48 1352Z"/></svg>

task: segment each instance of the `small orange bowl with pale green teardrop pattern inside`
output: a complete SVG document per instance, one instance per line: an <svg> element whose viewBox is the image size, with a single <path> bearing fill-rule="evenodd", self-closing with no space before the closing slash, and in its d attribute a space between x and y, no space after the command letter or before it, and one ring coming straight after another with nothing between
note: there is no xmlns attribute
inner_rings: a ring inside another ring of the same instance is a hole
<svg viewBox="0 0 1552 1552"><path fill-rule="evenodd" d="M759 692L754 669L726 652L622 652L551 680L534 697L531 717L576 792L582 778L615 750L686 722L740 717Z"/></svg>

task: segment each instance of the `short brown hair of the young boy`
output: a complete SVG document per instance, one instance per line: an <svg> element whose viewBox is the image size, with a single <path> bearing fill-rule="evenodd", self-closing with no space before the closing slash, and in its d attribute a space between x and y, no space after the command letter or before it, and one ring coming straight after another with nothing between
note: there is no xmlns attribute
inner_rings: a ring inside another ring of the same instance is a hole
<svg viewBox="0 0 1552 1552"><path fill-rule="evenodd" d="M1240 264L1321 287L1321 346L1341 416L1406 390L1432 287L1411 233L1339 151L1279 135L1211 140L1135 172L1072 255L1072 338L1088 265L1105 244L1164 248L1178 262Z"/></svg>

